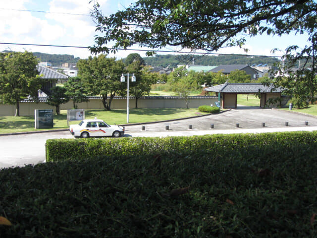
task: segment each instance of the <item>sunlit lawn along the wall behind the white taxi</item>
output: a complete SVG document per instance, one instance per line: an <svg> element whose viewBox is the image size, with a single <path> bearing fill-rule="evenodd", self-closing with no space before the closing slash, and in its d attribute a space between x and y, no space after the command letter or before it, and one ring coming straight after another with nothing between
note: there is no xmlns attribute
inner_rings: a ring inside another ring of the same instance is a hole
<svg viewBox="0 0 317 238"><path fill-rule="evenodd" d="M175 108L144 108L130 109L129 122L141 123L168 119L180 119L198 116L204 114L198 109L175 109ZM126 109L104 110L85 110L85 119L103 119L109 124L126 124ZM61 110L61 115L53 117L53 129L65 129L67 127L67 111ZM71 121L70 124L76 124L78 121ZM35 129L34 116L28 117L0 117L0 134L14 133L23 131L39 131L46 129Z"/></svg>

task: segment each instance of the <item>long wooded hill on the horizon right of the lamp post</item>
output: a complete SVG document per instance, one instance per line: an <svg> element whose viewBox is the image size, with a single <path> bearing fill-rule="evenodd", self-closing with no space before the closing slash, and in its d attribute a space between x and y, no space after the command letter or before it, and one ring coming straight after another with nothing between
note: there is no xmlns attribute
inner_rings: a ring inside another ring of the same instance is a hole
<svg viewBox="0 0 317 238"><path fill-rule="evenodd" d="M174 55L156 55L154 57L143 58L147 65L153 67L170 67L174 68L177 64L192 64L192 56L174 56ZM273 65L278 61L277 58L271 57L246 57L234 55L220 56L195 56L196 65L219 65L219 64L260 64L267 63Z"/></svg>

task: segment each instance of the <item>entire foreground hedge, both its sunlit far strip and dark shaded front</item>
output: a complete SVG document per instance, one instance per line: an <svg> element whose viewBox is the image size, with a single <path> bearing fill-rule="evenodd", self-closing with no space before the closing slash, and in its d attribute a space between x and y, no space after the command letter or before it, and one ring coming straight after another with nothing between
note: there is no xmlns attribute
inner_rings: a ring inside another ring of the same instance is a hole
<svg viewBox="0 0 317 238"><path fill-rule="evenodd" d="M58 163L0 171L0 216L13 224L0 237L317 237L316 142L316 132L48 140Z"/></svg>

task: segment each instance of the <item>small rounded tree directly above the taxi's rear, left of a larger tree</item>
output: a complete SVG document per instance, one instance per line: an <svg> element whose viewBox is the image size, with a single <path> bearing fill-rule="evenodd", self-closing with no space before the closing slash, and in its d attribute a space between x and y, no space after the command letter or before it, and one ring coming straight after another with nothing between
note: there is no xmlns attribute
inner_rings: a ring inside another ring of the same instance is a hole
<svg viewBox="0 0 317 238"><path fill-rule="evenodd" d="M85 89L80 77L70 77L64 84L66 95L73 101L73 108L78 108L78 103L88 102Z"/></svg>

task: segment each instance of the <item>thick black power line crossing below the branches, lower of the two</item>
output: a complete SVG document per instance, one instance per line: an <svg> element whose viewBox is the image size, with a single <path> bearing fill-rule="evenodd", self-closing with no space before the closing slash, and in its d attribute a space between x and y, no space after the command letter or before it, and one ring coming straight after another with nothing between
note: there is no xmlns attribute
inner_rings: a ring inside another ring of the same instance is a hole
<svg viewBox="0 0 317 238"><path fill-rule="evenodd" d="M22 43L5 43L0 42L3 45L18 45L18 46L44 46L44 47L64 47L64 48L81 48L88 49L86 46L61 46L61 45L43 45L43 44L22 44ZM112 48L111 48L112 49ZM220 56L247 56L247 57L268 57L268 58L282 58L281 56L263 56L263 55L246 55L246 54L223 54L223 53L203 53L203 52L183 52L183 51L163 51L163 50L142 50L142 49L123 49L113 48L117 51L154 51L163 53L181 53L181 54L193 54L193 55L220 55Z"/></svg>

